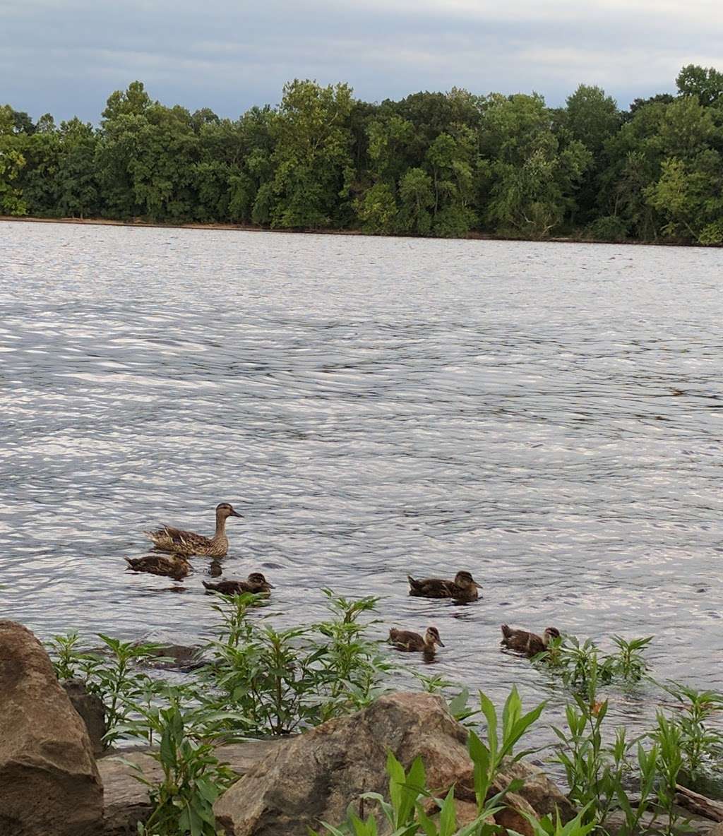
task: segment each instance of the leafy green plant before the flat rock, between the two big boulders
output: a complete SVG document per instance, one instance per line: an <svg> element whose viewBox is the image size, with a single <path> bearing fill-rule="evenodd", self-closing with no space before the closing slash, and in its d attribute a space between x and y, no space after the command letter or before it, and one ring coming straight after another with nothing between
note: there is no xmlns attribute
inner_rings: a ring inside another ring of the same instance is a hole
<svg viewBox="0 0 723 836"><path fill-rule="evenodd" d="M221 764L209 743L198 737L202 727L197 718L181 711L177 694L169 695L169 705L149 716L148 721L160 736L160 748L150 752L163 770L160 782L150 781L142 769L131 764L135 778L149 790L153 811L145 824L139 824L141 836L216 836L213 803L236 775Z"/></svg>

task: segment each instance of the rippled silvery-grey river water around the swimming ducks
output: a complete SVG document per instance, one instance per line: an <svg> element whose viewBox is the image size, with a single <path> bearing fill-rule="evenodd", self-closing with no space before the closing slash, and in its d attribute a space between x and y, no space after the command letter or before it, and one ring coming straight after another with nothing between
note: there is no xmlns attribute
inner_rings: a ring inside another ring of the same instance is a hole
<svg viewBox="0 0 723 836"><path fill-rule="evenodd" d="M193 641L201 578L124 571L211 533L283 624L320 588L435 624L433 671L563 695L499 624L654 634L723 687L723 251L0 223L0 613ZM471 570L480 603L410 599ZM405 664L421 667L420 660ZM654 696L650 696L654 700ZM614 709L634 723L637 701Z"/></svg>

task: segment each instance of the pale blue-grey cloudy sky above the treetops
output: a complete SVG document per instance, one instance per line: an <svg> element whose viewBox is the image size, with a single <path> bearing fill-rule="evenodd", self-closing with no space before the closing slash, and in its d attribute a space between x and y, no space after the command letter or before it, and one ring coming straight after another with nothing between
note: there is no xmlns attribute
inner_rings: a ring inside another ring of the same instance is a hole
<svg viewBox="0 0 723 836"><path fill-rule="evenodd" d="M368 101L464 87L552 106L598 84L627 107L723 69L720 0L0 0L0 103L97 122L140 79L154 99L232 118L284 82Z"/></svg>

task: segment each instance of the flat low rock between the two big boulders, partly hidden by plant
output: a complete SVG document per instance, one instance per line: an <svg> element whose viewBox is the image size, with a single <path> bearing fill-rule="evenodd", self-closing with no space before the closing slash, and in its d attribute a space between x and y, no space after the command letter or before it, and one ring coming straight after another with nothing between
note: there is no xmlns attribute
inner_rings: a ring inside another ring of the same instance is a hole
<svg viewBox="0 0 723 836"><path fill-rule="evenodd" d="M246 772L284 741L259 740L231 743L216 748L216 757L228 763L238 775ZM141 768L145 777L160 782L163 770L148 748L127 752L114 752L98 762L105 792L103 836L131 836L138 832L137 823L145 822L150 815L148 788L134 777L130 763ZM0 831L2 833L2 831Z"/></svg>

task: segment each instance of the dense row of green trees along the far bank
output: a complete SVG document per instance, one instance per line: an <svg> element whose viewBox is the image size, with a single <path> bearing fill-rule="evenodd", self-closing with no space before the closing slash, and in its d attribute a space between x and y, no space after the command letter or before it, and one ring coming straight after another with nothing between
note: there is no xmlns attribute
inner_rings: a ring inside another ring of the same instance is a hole
<svg viewBox="0 0 723 836"><path fill-rule="evenodd" d="M723 73L629 110L580 85L415 93L368 104L295 80L237 120L150 98L138 81L99 126L0 105L0 213L464 237L723 242Z"/></svg>

